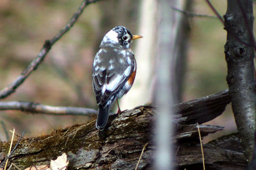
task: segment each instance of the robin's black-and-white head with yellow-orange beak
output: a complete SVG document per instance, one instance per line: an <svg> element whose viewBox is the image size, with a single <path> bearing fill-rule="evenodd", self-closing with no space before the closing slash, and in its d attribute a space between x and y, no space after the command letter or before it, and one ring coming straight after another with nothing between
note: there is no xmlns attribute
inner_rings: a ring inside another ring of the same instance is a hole
<svg viewBox="0 0 256 170"><path fill-rule="evenodd" d="M142 36L133 35L123 27L117 26L111 29L102 39L100 46L116 46L120 45L124 48L130 48L132 40L142 38Z"/></svg>

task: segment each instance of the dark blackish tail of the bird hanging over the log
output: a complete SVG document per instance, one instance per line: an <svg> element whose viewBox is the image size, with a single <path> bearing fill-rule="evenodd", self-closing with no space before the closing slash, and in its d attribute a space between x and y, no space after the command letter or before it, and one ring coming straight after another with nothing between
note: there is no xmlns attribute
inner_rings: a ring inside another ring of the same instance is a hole
<svg viewBox="0 0 256 170"><path fill-rule="evenodd" d="M103 131L104 127L108 123L109 108L110 108L109 106L106 106L105 108L103 108L101 105L99 105L96 128L100 129L100 131Z"/></svg>

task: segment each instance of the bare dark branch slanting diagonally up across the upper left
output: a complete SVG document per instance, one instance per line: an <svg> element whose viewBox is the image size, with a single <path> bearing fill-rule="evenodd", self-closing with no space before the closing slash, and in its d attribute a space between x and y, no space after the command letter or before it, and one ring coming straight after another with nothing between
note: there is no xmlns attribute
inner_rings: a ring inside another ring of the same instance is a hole
<svg viewBox="0 0 256 170"><path fill-rule="evenodd" d="M72 18L65 25L65 27L63 27L63 29L61 29L61 31L58 32L58 34L56 34L56 36L54 36L52 39L46 40L42 50L37 55L37 57L26 67L26 69L24 69L24 71L22 71L22 73L16 78L16 80L14 80L12 83L10 83L10 85L4 87L0 91L0 99L4 99L5 97L15 92L15 89L17 89L17 87L19 87L23 83L23 81L28 78L29 74L32 71L35 71L39 64L44 60L49 50L51 50L52 45L54 45L54 43L56 43L56 41L58 41L75 24L79 16L83 13L84 8L88 4L95 3L97 1L102 0L84 0L83 3L80 4L78 10L76 11L76 13L74 13Z"/></svg>

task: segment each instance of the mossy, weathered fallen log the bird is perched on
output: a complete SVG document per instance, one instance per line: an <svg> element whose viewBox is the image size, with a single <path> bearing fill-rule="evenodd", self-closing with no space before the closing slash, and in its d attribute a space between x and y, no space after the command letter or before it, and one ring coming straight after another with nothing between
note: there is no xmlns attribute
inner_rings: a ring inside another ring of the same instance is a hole
<svg viewBox="0 0 256 170"><path fill-rule="evenodd" d="M202 168L202 153L196 122L202 124L221 115L230 103L228 91L202 97L174 106L177 122L177 164L179 169ZM147 143L138 169L152 169L154 160L154 107L138 106L111 115L102 132L95 129L95 120L84 125L73 125L49 135L22 139L9 159L20 169L45 165L62 153L67 153L69 169L135 169L143 146ZM199 125L202 138L223 127ZM170 141L170 145L173 141ZM15 143L14 143L15 145ZM3 161L10 142L0 143ZM230 134L203 145L206 169L244 169L247 166L241 141Z"/></svg>

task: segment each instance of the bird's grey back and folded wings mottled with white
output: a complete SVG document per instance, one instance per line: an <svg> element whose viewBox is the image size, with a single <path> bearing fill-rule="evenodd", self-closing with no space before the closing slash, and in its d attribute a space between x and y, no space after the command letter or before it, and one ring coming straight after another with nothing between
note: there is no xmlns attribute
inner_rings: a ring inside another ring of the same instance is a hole
<svg viewBox="0 0 256 170"><path fill-rule="evenodd" d="M134 71L134 55L129 49L102 48L93 62L93 92L97 104L106 106L115 100Z"/></svg>

